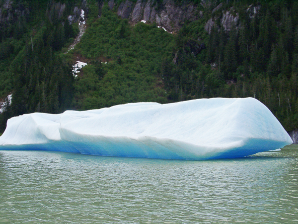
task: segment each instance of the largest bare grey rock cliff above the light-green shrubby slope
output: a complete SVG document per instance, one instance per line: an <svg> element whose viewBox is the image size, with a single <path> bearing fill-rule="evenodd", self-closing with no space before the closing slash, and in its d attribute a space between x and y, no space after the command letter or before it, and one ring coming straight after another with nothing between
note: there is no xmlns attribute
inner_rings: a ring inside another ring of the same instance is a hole
<svg viewBox="0 0 298 224"><path fill-rule="evenodd" d="M185 21L193 21L202 16L194 3L183 2L177 5L173 0L163 0L161 4L154 0L137 0L136 3L125 0L117 4L109 0L110 9L116 10L121 18L129 19L132 23L144 20L164 27L168 32L177 32ZM103 4L103 2L102 2ZM116 7L116 8L115 8Z"/></svg>

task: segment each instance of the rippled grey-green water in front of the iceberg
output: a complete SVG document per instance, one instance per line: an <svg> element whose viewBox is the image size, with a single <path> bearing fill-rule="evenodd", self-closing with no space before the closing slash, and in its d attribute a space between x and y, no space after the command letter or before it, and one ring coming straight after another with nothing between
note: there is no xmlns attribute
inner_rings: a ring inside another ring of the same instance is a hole
<svg viewBox="0 0 298 224"><path fill-rule="evenodd" d="M298 223L298 147L180 161L0 151L0 223Z"/></svg>

